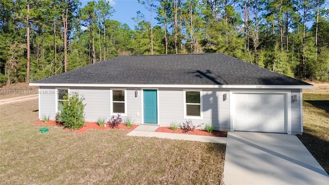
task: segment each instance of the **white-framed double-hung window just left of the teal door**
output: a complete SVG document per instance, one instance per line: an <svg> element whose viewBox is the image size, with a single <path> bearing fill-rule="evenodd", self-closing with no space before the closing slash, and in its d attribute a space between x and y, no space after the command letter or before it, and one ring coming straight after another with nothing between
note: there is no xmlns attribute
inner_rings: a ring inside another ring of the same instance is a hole
<svg viewBox="0 0 329 185"><path fill-rule="evenodd" d="M126 112L126 90L112 90L112 114L125 114Z"/></svg>

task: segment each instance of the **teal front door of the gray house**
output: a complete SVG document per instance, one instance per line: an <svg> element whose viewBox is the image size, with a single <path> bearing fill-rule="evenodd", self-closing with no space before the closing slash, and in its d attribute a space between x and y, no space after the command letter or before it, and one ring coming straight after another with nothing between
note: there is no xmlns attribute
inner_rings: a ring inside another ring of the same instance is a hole
<svg viewBox="0 0 329 185"><path fill-rule="evenodd" d="M144 96L144 123L157 123L156 90L143 90Z"/></svg>

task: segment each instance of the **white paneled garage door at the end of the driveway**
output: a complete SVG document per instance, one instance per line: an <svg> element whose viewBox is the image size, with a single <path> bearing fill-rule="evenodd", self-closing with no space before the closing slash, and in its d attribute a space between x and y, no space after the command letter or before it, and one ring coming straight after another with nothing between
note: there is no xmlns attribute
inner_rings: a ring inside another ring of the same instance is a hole
<svg viewBox="0 0 329 185"><path fill-rule="evenodd" d="M234 94L234 131L285 133L283 94Z"/></svg>

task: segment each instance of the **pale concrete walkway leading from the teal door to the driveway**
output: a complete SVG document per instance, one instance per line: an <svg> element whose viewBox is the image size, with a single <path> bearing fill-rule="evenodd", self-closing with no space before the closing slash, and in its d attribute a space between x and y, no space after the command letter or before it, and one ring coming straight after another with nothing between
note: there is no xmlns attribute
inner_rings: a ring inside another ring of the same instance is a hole
<svg viewBox="0 0 329 185"><path fill-rule="evenodd" d="M187 134L172 134L172 133L160 133L154 132L158 128L157 125L139 125L132 132L128 133L127 136L139 136L139 137L157 137L165 139L179 139L189 141L200 141L200 142L213 142L213 143L226 143L224 137L212 137L212 136L195 136Z"/></svg>

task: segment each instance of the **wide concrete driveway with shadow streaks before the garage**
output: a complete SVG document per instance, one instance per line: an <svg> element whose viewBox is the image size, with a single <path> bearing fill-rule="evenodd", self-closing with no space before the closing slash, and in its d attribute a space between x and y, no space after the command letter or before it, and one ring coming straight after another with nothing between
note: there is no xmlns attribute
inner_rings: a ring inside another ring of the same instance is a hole
<svg viewBox="0 0 329 185"><path fill-rule="evenodd" d="M224 182L329 184L329 176L296 136L228 132Z"/></svg>

